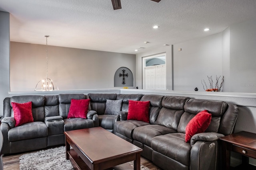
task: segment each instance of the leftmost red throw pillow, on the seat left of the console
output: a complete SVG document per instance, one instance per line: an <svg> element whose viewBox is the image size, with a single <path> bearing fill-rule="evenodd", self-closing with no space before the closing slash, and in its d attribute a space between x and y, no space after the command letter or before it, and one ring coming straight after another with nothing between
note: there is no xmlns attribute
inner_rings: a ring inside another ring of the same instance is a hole
<svg viewBox="0 0 256 170"><path fill-rule="evenodd" d="M14 112L15 127L24 123L34 122L32 115L32 102L22 104L12 102L11 104Z"/></svg>

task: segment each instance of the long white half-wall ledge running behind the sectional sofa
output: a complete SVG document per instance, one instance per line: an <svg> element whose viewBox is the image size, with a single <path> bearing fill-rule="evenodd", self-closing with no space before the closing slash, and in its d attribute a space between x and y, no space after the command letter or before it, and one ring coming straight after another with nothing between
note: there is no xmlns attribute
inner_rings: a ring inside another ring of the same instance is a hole
<svg viewBox="0 0 256 170"><path fill-rule="evenodd" d="M221 100L236 104L238 106L256 107L256 93L237 93L237 92L180 92L173 90L143 90L143 89L84 89L84 90L54 90L54 91L25 91L8 92L9 96L21 95L58 95L71 93L116 93L116 94L158 94L163 96L185 96L197 99Z"/></svg>

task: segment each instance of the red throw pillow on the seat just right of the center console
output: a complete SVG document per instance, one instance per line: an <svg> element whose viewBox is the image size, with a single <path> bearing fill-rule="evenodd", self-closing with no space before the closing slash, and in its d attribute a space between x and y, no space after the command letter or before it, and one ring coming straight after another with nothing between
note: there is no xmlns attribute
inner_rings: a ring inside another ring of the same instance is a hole
<svg viewBox="0 0 256 170"><path fill-rule="evenodd" d="M71 99L70 108L68 111L69 118L83 118L86 119L90 99Z"/></svg>

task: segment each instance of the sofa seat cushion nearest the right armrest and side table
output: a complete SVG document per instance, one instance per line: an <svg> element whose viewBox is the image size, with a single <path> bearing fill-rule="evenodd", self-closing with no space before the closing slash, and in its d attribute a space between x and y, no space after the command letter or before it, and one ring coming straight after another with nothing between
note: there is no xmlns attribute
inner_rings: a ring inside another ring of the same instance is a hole
<svg viewBox="0 0 256 170"><path fill-rule="evenodd" d="M190 162L190 143L185 142L184 133L169 133L156 136L151 141L151 148L186 166Z"/></svg>

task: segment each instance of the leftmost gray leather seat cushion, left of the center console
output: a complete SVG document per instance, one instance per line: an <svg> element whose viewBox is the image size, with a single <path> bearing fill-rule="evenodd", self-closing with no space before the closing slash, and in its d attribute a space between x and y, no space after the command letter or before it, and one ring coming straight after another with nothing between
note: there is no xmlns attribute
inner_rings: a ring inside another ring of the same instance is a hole
<svg viewBox="0 0 256 170"><path fill-rule="evenodd" d="M35 121L14 127L8 131L9 142L47 137L48 128L44 122Z"/></svg>

